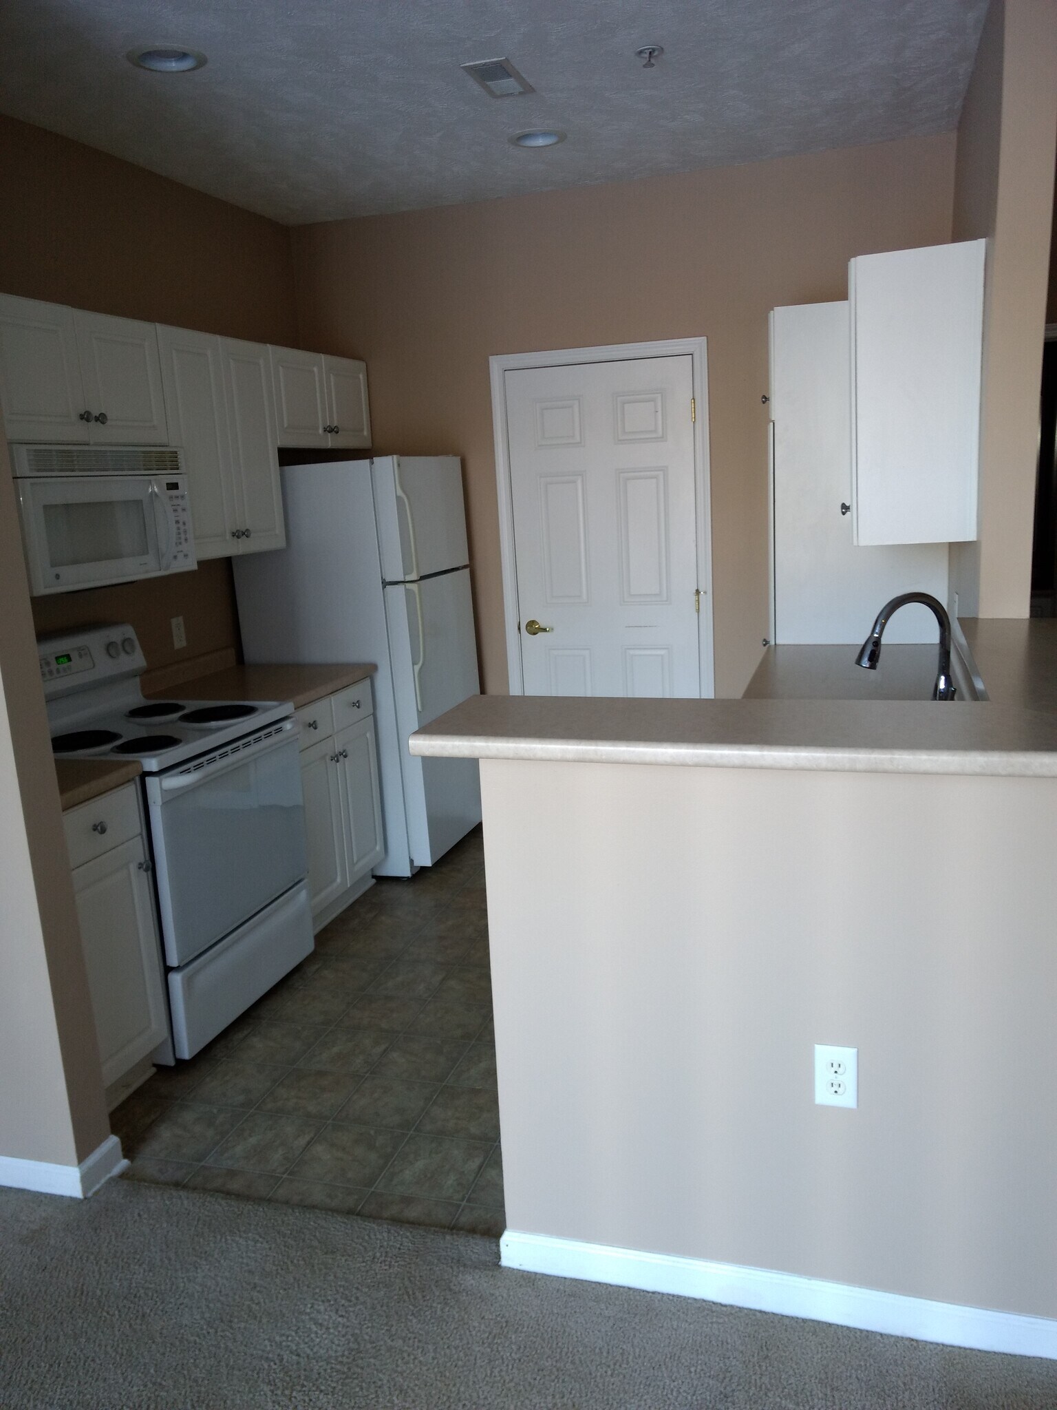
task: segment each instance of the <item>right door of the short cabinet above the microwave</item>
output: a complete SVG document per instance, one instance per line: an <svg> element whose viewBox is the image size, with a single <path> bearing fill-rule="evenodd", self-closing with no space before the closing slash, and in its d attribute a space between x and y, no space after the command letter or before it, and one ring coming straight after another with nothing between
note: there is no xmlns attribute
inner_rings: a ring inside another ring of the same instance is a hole
<svg viewBox="0 0 1057 1410"><path fill-rule="evenodd" d="M154 323L73 310L90 439L100 446L168 446Z"/></svg>

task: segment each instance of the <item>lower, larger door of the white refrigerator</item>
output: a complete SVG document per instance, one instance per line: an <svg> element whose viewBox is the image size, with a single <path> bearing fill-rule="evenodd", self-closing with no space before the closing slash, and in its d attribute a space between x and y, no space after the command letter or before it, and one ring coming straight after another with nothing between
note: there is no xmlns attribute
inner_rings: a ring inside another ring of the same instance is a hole
<svg viewBox="0 0 1057 1410"><path fill-rule="evenodd" d="M475 759L417 759L421 725L476 695L469 570L385 589L412 860L431 866L481 822Z"/></svg>

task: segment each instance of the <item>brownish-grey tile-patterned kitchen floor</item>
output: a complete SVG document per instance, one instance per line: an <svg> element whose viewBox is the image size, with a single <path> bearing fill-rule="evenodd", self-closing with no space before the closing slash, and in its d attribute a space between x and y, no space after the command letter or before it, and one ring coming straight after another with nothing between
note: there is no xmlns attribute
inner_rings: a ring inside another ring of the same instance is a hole
<svg viewBox="0 0 1057 1410"><path fill-rule="evenodd" d="M481 829L111 1112L127 1179L502 1234Z"/></svg>

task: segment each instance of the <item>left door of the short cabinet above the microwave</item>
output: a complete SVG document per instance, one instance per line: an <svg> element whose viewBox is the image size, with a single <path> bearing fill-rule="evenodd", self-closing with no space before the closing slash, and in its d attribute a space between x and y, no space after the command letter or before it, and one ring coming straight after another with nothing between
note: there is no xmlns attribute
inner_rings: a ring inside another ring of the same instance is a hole
<svg viewBox="0 0 1057 1410"><path fill-rule="evenodd" d="M87 441L73 309L0 295L0 410L8 441Z"/></svg>

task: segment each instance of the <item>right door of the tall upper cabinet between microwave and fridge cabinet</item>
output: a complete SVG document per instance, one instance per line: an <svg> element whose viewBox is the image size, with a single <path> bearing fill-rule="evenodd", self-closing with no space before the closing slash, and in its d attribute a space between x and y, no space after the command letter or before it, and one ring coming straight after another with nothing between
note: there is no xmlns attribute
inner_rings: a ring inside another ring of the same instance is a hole
<svg viewBox="0 0 1057 1410"><path fill-rule="evenodd" d="M268 345L220 340L224 364L231 458L235 467L240 553L286 544L279 458L275 453L275 400Z"/></svg>

